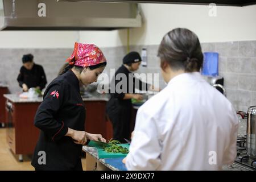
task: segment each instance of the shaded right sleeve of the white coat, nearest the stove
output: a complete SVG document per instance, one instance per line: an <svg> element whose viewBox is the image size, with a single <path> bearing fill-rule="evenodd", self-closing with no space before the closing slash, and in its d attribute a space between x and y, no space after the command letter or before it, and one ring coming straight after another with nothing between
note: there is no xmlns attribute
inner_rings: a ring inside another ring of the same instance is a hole
<svg viewBox="0 0 256 182"><path fill-rule="evenodd" d="M237 156L237 132L238 132L238 117L233 110L233 127L230 134L230 143L226 148L223 156L223 164L232 164Z"/></svg>

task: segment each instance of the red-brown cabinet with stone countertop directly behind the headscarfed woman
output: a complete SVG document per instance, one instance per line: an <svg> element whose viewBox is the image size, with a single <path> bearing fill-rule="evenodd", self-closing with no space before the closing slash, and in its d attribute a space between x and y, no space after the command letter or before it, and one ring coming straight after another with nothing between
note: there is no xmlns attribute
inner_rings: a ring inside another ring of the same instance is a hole
<svg viewBox="0 0 256 182"><path fill-rule="evenodd" d="M7 100L5 115L7 121L7 143L14 154L31 155L38 141L40 130L34 126L34 117L43 98L20 99L15 94L5 94ZM112 138L112 125L106 119L107 98L83 98L86 107L85 130L88 133L101 134Z"/></svg>

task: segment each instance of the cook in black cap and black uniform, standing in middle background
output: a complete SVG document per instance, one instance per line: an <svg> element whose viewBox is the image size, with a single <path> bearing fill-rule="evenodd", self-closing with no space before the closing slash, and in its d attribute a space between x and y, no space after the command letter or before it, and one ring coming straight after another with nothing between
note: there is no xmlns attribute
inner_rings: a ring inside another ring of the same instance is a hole
<svg viewBox="0 0 256 182"><path fill-rule="evenodd" d="M141 56L138 52L130 52L123 57L123 64L115 72L114 78L110 84L110 100L106 105L106 113L113 126L113 139L119 140L121 143L127 143L125 139L130 138L130 121L131 121L131 99L142 100L141 94L135 93L135 88L139 90L158 90L153 85L142 82L134 77L134 71L139 69L141 64ZM121 76L119 80L117 77ZM121 86L121 90L117 90L121 81L124 81L122 75L126 78L125 86ZM129 79L132 81L129 82ZM114 89L113 89L114 87ZM112 91L114 90L114 92Z"/></svg>

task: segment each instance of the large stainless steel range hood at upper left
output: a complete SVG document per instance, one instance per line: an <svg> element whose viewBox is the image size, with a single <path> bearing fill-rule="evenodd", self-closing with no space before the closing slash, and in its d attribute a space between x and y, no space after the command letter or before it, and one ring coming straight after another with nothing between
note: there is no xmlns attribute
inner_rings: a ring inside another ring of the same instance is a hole
<svg viewBox="0 0 256 182"><path fill-rule="evenodd" d="M4 11L1 30L115 30L141 26L137 3L0 1Z"/></svg>

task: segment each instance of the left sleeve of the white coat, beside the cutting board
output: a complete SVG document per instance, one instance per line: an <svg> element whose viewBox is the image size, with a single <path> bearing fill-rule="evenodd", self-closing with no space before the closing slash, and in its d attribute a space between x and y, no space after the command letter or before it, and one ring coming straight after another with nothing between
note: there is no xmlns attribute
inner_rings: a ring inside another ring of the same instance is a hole
<svg viewBox="0 0 256 182"><path fill-rule="evenodd" d="M130 152L126 158L128 170L156 170L160 165L158 127L154 118L140 108L137 113Z"/></svg>

